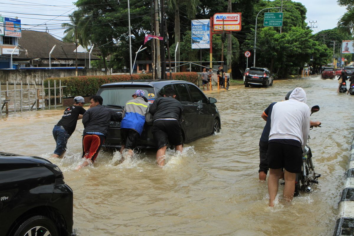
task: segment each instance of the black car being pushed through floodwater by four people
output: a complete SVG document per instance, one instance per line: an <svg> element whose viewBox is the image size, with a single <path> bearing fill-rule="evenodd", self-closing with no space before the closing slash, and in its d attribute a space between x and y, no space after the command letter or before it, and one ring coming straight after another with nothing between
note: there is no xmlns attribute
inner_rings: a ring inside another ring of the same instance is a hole
<svg viewBox="0 0 354 236"><path fill-rule="evenodd" d="M97 95L103 98L103 105L115 111L122 111L125 103L132 99L137 89L145 92L149 103L164 95L166 88L176 91L176 99L182 103L182 138L184 143L219 132L220 115L216 108L216 99L207 98L193 83L181 80L135 80L130 82L114 82L102 85ZM138 140L139 148L156 148L152 123L145 123L143 133ZM111 121L108 136L103 144L105 147L119 148L120 122Z"/></svg>

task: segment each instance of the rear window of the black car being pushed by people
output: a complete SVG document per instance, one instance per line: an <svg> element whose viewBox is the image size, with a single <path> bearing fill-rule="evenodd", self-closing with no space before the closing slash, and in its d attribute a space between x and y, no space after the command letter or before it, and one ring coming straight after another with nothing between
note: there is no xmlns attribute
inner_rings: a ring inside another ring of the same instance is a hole
<svg viewBox="0 0 354 236"><path fill-rule="evenodd" d="M155 100L154 88L146 87L100 88L97 95L103 98L103 105L118 105L124 107L129 100L133 99L132 95L138 89L145 92L145 97L148 98L149 103L152 103L153 100Z"/></svg>

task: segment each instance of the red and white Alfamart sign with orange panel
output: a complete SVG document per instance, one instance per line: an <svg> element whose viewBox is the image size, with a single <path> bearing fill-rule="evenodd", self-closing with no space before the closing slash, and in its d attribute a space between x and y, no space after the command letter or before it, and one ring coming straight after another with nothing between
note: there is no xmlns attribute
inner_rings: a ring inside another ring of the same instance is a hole
<svg viewBox="0 0 354 236"><path fill-rule="evenodd" d="M216 13L213 16L214 31L240 31L241 12L237 13Z"/></svg>

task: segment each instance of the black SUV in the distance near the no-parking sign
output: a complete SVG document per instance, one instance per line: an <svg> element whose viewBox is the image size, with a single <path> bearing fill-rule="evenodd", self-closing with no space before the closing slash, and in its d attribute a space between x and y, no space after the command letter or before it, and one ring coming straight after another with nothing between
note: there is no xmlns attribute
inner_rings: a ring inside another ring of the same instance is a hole
<svg viewBox="0 0 354 236"><path fill-rule="evenodd" d="M267 68L251 67L245 76L245 87L262 85L268 88L273 85L273 76Z"/></svg>

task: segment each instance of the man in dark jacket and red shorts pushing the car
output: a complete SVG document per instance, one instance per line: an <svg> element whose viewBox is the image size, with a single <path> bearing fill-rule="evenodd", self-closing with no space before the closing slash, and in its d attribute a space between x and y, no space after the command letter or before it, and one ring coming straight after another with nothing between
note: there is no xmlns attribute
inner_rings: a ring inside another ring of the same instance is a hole
<svg viewBox="0 0 354 236"><path fill-rule="evenodd" d="M101 96L90 98L90 109L82 117L84 124L84 137L82 138L82 159L84 162L77 167L80 170L96 160L99 149L108 134L109 122L111 120L121 121L122 114L115 113L112 109L102 106Z"/></svg>

